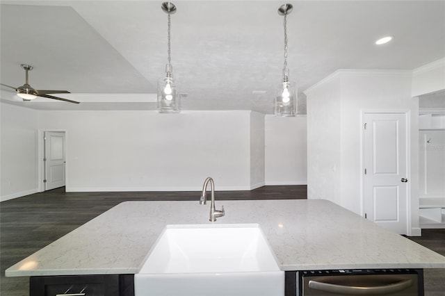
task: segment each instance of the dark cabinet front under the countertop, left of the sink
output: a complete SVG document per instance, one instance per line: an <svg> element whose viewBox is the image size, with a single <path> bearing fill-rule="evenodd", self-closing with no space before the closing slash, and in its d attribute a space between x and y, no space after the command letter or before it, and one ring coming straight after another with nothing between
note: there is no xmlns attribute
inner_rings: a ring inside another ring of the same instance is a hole
<svg viewBox="0 0 445 296"><path fill-rule="evenodd" d="M134 274L31 277L30 296L134 296Z"/></svg>

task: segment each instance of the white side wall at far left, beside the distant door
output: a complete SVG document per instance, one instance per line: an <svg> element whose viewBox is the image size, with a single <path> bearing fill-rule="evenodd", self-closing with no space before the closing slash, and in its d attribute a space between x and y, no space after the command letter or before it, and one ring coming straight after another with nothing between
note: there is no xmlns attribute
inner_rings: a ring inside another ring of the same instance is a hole
<svg viewBox="0 0 445 296"><path fill-rule="evenodd" d="M38 111L0 104L1 201L38 191Z"/></svg>

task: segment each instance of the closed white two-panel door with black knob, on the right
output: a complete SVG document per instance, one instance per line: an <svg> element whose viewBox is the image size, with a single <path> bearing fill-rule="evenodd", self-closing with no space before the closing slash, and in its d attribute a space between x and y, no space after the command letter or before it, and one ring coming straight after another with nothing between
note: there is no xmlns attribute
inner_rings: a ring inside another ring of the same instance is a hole
<svg viewBox="0 0 445 296"><path fill-rule="evenodd" d="M407 234L405 113L364 114L364 213L386 229Z"/></svg>

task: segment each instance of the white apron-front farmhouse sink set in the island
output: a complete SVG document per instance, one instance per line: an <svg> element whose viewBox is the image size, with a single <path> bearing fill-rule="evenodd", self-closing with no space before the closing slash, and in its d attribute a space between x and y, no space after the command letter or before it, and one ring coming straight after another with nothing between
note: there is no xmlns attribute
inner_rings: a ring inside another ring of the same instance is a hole
<svg viewBox="0 0 445 296"><path fill-rule="evenodd" d="M284 295L258 224L167 225L134 277L136 296Z"/></svg>

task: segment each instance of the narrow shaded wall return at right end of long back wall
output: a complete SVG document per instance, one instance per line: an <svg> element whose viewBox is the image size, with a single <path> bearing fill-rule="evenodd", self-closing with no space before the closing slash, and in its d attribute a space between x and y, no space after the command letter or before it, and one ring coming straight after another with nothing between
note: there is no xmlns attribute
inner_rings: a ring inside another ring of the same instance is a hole
<svg viewBox="0 0 445 296"><path fill-rule="evenodd" d="M250 113L250 189L265 185L264 114Z"/></svg>

